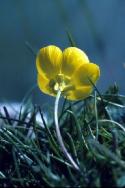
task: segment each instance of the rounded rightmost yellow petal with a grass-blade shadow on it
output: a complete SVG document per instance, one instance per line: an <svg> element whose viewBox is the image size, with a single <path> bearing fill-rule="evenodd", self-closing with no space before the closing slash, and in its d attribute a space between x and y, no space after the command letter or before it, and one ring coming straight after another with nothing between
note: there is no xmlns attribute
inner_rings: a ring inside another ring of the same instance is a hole
<svg viewBox="0 0 125 188"><path fill-rule="evenodd" d="M99 66L94 63L86 63L76 70L71 80L75 86L86 86L92 85L90 80L95 84L99 76Z"/></svg>

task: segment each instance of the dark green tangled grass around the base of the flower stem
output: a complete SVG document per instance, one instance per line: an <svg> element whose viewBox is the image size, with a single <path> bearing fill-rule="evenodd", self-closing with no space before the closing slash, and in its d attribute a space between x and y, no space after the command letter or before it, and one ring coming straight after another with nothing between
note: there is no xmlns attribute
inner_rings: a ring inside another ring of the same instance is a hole
<svg viewBox="0 0 125 188"><path fill-rule="evenodd" d="M125 96L119 95L116 86L104 95L96 91L84 101L64 101L59 115L61 134L80 172L61 152L53 118L47 124L42 108L28 101L14 119L4 107L6 115L0 115L0 187L125 186L124 104ZM38 113L44 128L36 121ZM28 136L30 129L34 136Z"/></svg>

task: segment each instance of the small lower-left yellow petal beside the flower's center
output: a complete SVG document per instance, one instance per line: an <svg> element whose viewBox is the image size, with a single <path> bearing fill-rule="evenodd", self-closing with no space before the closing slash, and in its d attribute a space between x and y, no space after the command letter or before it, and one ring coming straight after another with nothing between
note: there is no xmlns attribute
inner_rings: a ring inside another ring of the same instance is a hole
<svg viewBox="0 0 125 188"><path fill-rule="evenodd" d="M54 93L49 87L50 81L44 76L44 74L38 74L37 83L43 93L54 96Z"/></svg>

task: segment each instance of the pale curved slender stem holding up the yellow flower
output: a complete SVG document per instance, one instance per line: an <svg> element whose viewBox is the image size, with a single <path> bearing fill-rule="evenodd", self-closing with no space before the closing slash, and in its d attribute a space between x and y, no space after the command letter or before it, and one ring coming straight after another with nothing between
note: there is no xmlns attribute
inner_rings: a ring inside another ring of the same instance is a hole
<svg viewBox="0 0 125 188"><path fill-rule="evenodd" d="M54 108L54 120L55 120L55 126L56 126L56 134L57 134L57 139L59 142L59 145L62 149L62 152L64 153L65 157L70 161L70 163L72 164L72 166L76 169L76 170L80 170L78 165L75 163L75 161L73 160L73 158L71 157L71 155L68 153L64 143L63 143L63 139L60 133L60 129L59 129L59 121L58 121L58 106L59 106L59 99L61 96L61 91L59 90L56 96L56 100L55 100L55 108Z"/></svg>

